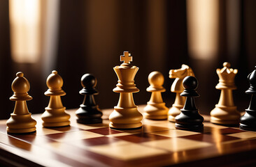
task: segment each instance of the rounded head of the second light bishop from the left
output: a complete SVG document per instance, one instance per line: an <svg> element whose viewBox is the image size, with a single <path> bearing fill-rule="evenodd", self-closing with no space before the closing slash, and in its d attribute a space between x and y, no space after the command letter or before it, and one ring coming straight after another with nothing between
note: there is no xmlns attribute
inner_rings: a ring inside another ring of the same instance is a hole
<svg viewBox="0 0 256 167"><path fill-rule="evenodd" d="M59 90L63 86L63 79L59 76L58 72L56 70L52 71L52 74L50 74L46 80L46 84L48 88L52 90Z"/></svg>

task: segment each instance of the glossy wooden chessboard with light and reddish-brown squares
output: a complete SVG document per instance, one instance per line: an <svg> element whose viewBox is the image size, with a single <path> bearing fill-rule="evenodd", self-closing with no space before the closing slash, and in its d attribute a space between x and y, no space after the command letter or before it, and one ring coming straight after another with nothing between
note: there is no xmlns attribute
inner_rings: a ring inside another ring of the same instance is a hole
<svg viewBox="0 0 256 167"><path fill-rule="evenodd" d="M143 106L139 106L139 111ZM175 129L167 120L143 120L143 128L113 130L108 115L95 125L43 128L41 115L37 132L6 134L6 120L0 121L0 161L6 166L241 166L256 164L256 132L223 127L208 122L204 132Z"/></svg>

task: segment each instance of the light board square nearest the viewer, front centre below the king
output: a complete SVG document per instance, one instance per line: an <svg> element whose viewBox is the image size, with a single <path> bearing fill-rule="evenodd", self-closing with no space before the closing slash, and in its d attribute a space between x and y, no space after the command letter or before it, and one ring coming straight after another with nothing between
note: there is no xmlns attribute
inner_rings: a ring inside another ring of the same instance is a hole
<svg viewBox="0 0 256 167"><path fill-rule="evenodd" d="M98 154L103 154L108 157L125 161L167 153L164 150L149 148L143 145L129 143L127 141L118 141L108 145L92 146L89 148L89 150Z"/></svg>

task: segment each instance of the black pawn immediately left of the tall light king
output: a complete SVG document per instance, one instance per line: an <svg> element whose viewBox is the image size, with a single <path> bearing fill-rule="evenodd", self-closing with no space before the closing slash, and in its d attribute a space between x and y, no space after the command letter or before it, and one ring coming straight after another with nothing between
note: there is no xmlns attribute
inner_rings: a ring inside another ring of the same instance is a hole
<svg viewBox="0 0 256 167"><path fill-rule="evenodd" d="M95 89L97 79L92 74L84 74L81 78L81 84L83 89L79 93L85 95L85 98L83 104L80 104L80 108L76 111L77 122L82 124L101 123L102 113L94 100L94 95L98 94Z"/></svg>

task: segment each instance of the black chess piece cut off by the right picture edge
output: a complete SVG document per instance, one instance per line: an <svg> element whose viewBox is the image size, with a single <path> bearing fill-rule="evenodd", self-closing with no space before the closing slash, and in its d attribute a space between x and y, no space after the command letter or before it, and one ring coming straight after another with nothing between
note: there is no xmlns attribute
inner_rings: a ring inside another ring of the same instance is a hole
<svg viewBox="0 0 256 167"><path fill-rule="evenodd" d="M256 131L256 66L255 70L248 75L250 88L246 93L252 95L250 105L246 109L246 113L240 118L240 128L250 131Z"/></svg>

